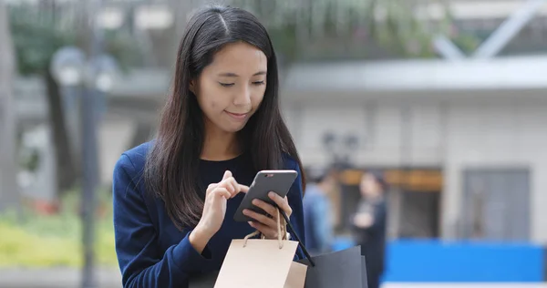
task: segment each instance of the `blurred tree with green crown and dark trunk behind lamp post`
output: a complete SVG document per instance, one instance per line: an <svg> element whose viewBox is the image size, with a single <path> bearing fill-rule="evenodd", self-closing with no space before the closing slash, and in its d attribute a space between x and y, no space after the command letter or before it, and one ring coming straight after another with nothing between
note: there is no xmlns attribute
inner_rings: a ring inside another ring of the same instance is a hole
<svg viewBox="0 0 547 288"><path fill-rule="evenodd" d="M67 119L59 86L49 71L54 53L62 46L75 45L87 50L89 38L83 14L63 15L62 6L50 1L46 6L17 5L9 9L10 27L14 37L16 65L22 76L40 76L46 84L49 122L53 131L57 159L57 188L60 193L69 190L80 176L80 165L74 145L68 137ZM86 13L81 9L82 13ZM77 29L75 29L77 26ZM122 68L137 62L139 49L124 31L105 35L105 50L116 57Z"/></svg>

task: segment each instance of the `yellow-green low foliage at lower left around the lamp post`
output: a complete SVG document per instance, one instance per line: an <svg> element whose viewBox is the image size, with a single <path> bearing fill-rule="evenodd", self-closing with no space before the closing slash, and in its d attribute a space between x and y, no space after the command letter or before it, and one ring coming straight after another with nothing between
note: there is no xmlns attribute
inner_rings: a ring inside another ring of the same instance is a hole
<svg viewBox="0 0 547 288"><path fill-rule="evenodd" d="M96 257L99 265L116 266L114 229L110 201L102 197L108 211L97 221ZM77 217L77 195L67 194L58 215L38 216L26 211L21 221L14 212L0 215L0 267L81 267L81 220Z"/></svg>

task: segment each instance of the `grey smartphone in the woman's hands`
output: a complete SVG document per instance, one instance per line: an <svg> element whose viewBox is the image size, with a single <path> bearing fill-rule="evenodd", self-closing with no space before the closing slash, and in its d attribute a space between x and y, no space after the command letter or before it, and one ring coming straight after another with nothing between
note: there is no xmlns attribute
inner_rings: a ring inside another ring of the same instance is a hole
<svg viewBox="0 0 547 288"><path fill-rule="evenodd" d="M233 220L241 222L255 221L243 214L245 209L266 215L265 211L253 204L253 200L259 199L275 206L275 202L268 197L268 193L273 191L281 197L287 196L296 177L298 177L298 172L295 170L262 170L256 173L253 184L249 187L249 191L247 191L242 203L233 215Z"/></svg>

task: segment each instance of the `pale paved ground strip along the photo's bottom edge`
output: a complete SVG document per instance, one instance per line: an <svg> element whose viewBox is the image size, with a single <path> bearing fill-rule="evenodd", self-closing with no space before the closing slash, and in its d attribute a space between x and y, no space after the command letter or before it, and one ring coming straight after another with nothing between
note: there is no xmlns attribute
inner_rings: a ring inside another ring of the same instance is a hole
<svg viewBox="0 0 547 288"><path fill-rule="evenodd" d="M98 288L120 288L118 270L98 270ZM79 288L80 272L65 268L0 270L1 288ZM382 288L547 288L547 283L386 283Z"/></svg>

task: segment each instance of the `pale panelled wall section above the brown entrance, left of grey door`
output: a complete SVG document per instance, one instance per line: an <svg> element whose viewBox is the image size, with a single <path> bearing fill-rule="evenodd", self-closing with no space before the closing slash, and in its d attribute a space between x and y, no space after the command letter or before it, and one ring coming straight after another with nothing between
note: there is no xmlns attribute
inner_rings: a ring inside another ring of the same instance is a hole
<svg viewBox="0 0 547 288"><path fill-rule="evenodd" d="M366 165L439 166L443 157L444 119L440 103L415 103L408 108L377 101L357 105L284 108L304 163L324 165L323 134L356 134L356 163Z"/></svg>

